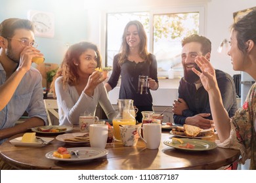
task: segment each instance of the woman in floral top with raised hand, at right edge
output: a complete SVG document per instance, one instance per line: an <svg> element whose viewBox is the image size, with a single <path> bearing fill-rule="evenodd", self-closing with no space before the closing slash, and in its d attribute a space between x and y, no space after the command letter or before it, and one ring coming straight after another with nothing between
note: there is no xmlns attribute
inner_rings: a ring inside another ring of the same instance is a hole
<svg viewBox="0 0 256 183"><path fill-rule="evenodd" d="M233 69L244 71L256 80L256 10L253 10L232 25L230 50ZM196 58L201 71L192 68L200 76L203 87L209 94L211 114L220 141L225 148L240 150L244 163L251 159L250 169L256 169L256 84L251 86L243 107L232 118L223 107L215 69L203 56Z"/></svg>

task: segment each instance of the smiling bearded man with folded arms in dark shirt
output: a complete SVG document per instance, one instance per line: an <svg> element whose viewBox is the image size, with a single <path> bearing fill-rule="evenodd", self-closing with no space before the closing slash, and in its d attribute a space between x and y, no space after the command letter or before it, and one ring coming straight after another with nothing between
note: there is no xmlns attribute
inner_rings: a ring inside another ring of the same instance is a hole
<svg viewBox="0 0 256 183"><path fill-rule="evenodd" d="M173 119L175 124L195 125L202 129L214 127L209 97L203 88L201 80L192 68L200 71L195 63L196 56L211 58L211 41L199 35L190 35L182 40L182 65L184 77L179 85L179 99L173 102ZM201 71L200 71L201 72ZM221 90L223 105L228 115L234 116L236 111L236 90L230 75L223 71L215 70L218 86Z"/></svg>

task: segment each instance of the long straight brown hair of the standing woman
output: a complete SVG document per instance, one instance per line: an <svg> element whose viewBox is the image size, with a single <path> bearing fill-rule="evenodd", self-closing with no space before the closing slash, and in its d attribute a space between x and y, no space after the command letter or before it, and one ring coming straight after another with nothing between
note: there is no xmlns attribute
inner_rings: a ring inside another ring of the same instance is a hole
<svg viewBox="0 0 256 183"><path fill-rule="evenodd" d="M122 44L121 44L121 48L119 51L119 53L120 53L119 63L123 63L123 61L125 61L125 59L127 59L129 56L130 48L129 48L128 43L126 42L126 36L127 36L127 29L129 28L130 25L136 25L136 27L138 29L138 34L140 37L140 47L139 47L140 57L146 61L150 61L150 63L151 63L151 57L150 57L150 54L148 53L148 49L147 49L146 31L145 31L143 25L138 20L130 21L125 26L125 29L123 31L123 37L122 37Z"/></svg>

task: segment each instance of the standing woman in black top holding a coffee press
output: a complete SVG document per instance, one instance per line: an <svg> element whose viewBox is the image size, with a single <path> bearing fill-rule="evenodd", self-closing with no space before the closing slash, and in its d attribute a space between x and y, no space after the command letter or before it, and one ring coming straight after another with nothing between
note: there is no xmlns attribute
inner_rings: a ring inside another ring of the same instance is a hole
<svg viewBox="0 0 256 183"><path fill-rule="evenodd" d="M112 75L105 86L108 92L115 88L121 75L119 99L133 99L133 105L139 109L137 122L142 120L142 111L153 111L150 90L158 89L157 69L156 56L147 50L143 25L137 20L128 22L123 31L120 52L114 57ZM148 76L148 94L137 93L139 75Z"/></svg>

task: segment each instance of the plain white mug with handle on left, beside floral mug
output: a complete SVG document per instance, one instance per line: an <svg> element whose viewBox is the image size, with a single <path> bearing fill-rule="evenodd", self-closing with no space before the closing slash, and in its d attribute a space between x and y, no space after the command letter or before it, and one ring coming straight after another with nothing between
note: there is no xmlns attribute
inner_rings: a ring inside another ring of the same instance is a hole
<svg viewBox="0 0 256 183"><path fill-rule="evenodd" d="M143 130L143 137L140 131ZM161 124L143 124L138 128L140 138L146 143L146 148L157 149L161 142Z"/></svg>

